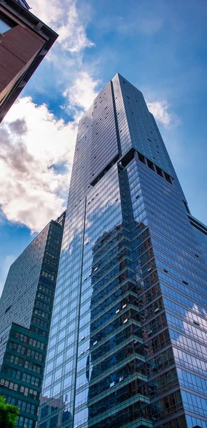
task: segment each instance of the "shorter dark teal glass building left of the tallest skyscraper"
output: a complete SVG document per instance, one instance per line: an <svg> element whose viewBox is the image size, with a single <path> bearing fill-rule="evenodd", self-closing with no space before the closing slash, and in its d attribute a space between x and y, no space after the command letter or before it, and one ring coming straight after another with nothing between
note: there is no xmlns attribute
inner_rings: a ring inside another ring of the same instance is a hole
<svg viewBox="0 0 207 428"><path fill-rule="evenodd" d="M36 427L64 219L51 220L11 265L1 296L0 395L19 407L16 427Z"/></svg>

